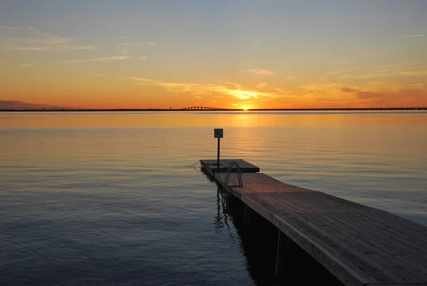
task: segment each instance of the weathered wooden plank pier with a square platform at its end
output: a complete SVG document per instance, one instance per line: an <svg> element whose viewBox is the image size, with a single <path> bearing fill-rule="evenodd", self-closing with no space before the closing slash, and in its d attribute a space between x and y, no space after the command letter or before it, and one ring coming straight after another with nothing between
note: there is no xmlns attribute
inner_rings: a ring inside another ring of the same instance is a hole
<svg viewBox="0 0 427 286"><path fill-rule="evenodd" d="M221 166L231 161L242 164L243 179L243 187L230 188L231 194L273 223L279 242L290 238L344 285L427 285L427 227L285 184L243 160L221 160L218 173L216 160L201 160L201 169L223 188ZM231 174L228 185L237 182Z"/></svg>

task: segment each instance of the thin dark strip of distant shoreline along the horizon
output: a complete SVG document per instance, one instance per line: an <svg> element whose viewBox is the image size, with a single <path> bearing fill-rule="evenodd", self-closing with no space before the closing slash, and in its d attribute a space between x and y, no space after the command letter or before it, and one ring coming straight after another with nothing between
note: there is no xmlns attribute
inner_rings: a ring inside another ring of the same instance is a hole
<svg viewBox="0 0 427 286"><path fill-rule="evenodd" d="M255 109L227 109L227 108L213 108L213 107L187 107L179 109L161 109L161 108L124 108L124 109L0 109L0 112L149 112L149 111L181 111L181 112L194 112L194 111L419 111L427 110L427 107L382 107L382 108L255 108Z"/></svg>

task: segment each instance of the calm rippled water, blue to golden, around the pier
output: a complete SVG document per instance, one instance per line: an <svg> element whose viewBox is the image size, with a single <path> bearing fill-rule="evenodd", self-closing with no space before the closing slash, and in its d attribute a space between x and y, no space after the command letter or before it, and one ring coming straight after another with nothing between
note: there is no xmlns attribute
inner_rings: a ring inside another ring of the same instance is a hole
<svg viewBox="0 0 427 286"><path fill-rule="evenodd" d="M216 185L270 176L427 225L427 113L0 113L1 285L268 285Z"/></svg>

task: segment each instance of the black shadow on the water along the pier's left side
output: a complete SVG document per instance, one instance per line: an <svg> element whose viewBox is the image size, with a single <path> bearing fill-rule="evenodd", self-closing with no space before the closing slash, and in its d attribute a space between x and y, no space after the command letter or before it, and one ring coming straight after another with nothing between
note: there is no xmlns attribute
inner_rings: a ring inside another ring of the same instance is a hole
<svg viewBox="0 0 427 286"><path fill-rule="evenodd" d="M343 285L320 263L238 198L217 190L216 228L236 228L255 285Z"/></svg>

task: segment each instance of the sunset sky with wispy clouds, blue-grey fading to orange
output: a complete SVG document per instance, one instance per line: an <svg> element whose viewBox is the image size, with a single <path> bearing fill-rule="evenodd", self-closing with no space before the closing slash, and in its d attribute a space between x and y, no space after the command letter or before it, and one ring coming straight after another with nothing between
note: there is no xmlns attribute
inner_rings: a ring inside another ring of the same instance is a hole
<svg viewBox="0 0 427 286"><path fill-rule="evenodd" d="M427 107L426 0L1 0L0 108Z"/></svg>

